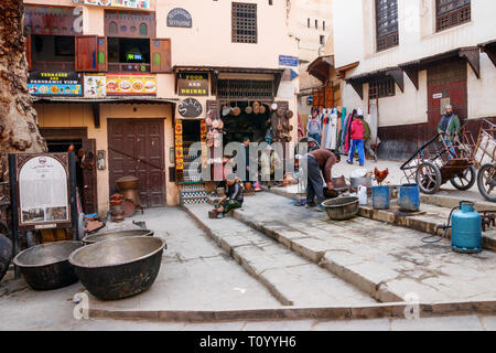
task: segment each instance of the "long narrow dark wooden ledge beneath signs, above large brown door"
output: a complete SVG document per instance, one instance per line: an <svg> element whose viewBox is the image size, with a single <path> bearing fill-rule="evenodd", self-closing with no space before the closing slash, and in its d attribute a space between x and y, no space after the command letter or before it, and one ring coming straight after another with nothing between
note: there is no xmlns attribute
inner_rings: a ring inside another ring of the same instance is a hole
<svg viewBox="0 0 496 353"><path fill-rule="evenodd" d="M176 98L157 98L143 96L129 97L105 97L105 98L84 98L84 97L36 97L32 96L33 103L48 104L90 104L93 109L93 120L95 128L100 128L100 104L176 104ZM175 109L172 109L173 114Z"/></svg>

